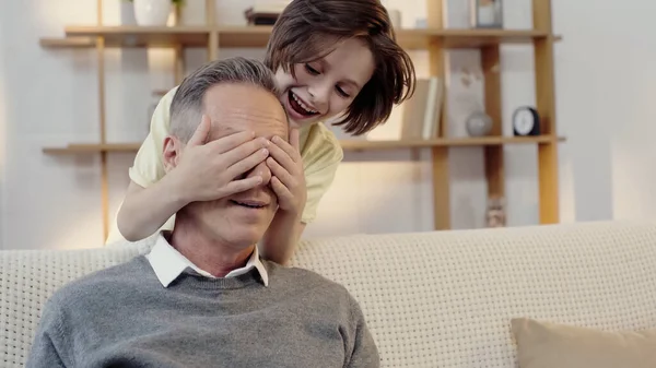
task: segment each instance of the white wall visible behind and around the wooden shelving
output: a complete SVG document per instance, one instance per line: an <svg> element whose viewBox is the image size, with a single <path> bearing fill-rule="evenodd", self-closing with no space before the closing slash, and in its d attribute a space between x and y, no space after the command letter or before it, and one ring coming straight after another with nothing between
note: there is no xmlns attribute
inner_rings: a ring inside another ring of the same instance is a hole
<svg viewBox="0 0 656 368"><path fill-rule="evenodd" d="M218 0L219 19L241 22L243 10L251 2ZM506 26L530 27L530 2L505 0ZM202 1L187 3L185 21L198 23L202 20ZM403 26L412 26L425 11L422 0L387 3L402 11ZM462 3L449 0L450 26L465 25ZM648 215L656 201L656 194L649 193L653 181L647 180L653 176L639 173L649 167L649 158L656 153L648 141L648 133L656 129L649 126L649 88L654 88L655 72L648 68L656 45L648 35L656 25L646 19L656 5L646 0L631 3L640 9L609 0L553 0L555 32L564 36L557 47L555 76L559 133L567 136L559 157L561 215L565 222L611 218L613 211L621 217ZM125 1L106 0L106 22L131 22L127 7ZM93 22L95 2L82 0L12 1L0 13L0 29L12 33L11 38L0 43L0 50L11 55L0 63L0 107L5 107L0 108L0 123L7 122L0 147L9 153L3 166L4 195L0 195L0 232L5 248L102 245L97 157L59 157L40 152L47 144L98 138L94 51L38 46L39 37L61 35L66 24ZM584 25L591 28L584 31ZM262 55L261 49L222 50L220 57L241 52ZM171 56L168 50L108 52L110 141L138 141L145 135L151 91L173 83ZM425 52L413 52L413 58L420 75L425 75ZM186 59L189 68L196 67L204 60L204 51L191 50ZM450 62L449 124L458 132L469 106L481 99L482 82L476 78L480 71L476 51L452 52ZM530 47L504 46L501 69L503 126L509 134L512 111L522 104L535 104ZM462 83L467 76L473 78L469 86ZM611 95L601 95L602 91ZM396 111L372 138L394 134L398 115ZM509 225L535 224L536 149L508 146L505 152ZM110 155L113 210L127 186L131 159L131 154ZM485 205L482 150L454 149L450 164L454 227L481 227ZM403 150L348 153L306 236L427 230L433 221L430 178L427 152L418 157Z"/></svg>

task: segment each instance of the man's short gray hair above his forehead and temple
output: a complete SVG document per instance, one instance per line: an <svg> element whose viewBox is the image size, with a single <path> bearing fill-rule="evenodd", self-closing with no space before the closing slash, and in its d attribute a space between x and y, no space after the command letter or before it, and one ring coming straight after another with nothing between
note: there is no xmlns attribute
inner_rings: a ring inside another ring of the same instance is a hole
<svg viewBox="0 0 656 368"><path fill-rule="evenodd" d="M260 86L278 97L273 72L261 61L235 57L208 62L189 74L171 103L171 133L188 142L200 124L206 92L220 83L246 83Z"/></svg>

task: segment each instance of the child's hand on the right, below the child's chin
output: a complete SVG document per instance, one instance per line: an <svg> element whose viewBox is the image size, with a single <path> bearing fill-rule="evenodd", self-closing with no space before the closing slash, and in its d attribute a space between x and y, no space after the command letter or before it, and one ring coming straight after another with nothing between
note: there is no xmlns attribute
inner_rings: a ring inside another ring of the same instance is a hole
<svg viewBox="0 0 656 368"><path fill-rule="evenodd" d="M291 129L290 143L280 136L271 141L271 157L267 158L267 166L271 169L271 188L278 197L278 205L282 211L300 215L305 207L307 189L298 149L298 129Z"/></svg>

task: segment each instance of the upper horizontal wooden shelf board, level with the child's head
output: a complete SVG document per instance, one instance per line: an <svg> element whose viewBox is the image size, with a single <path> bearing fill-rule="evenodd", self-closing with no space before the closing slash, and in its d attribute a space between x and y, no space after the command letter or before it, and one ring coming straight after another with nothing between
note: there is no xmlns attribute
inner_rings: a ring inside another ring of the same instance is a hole
<svg viewBox="0 0 656 368"><path fill-rule="evenodd" d="M94 47L95 37L104 37L106 47L207 47L209 35L216 32L219 47L261 48L267 46L271 26L68 26L66 38L43 38L44 47ZM534 29L399 29L397 38L407 49L425 49L432 41L445 48L480 48L500 44L530 44L535 39L560 37Z"/></svg>

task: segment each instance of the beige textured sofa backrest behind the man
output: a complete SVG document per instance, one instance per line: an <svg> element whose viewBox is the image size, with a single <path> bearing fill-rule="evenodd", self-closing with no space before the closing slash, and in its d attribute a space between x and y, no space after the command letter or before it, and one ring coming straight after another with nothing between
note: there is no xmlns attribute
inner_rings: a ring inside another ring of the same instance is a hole
<svg viewBox="0 0 656 368"><path fill-rule="evenodd" d="M149 248L0 252L0 366L22 366L56 288ZM656 328L652 222L313 239L294 264L353 293L383 367L515 367L514 317Z"/></svg>

